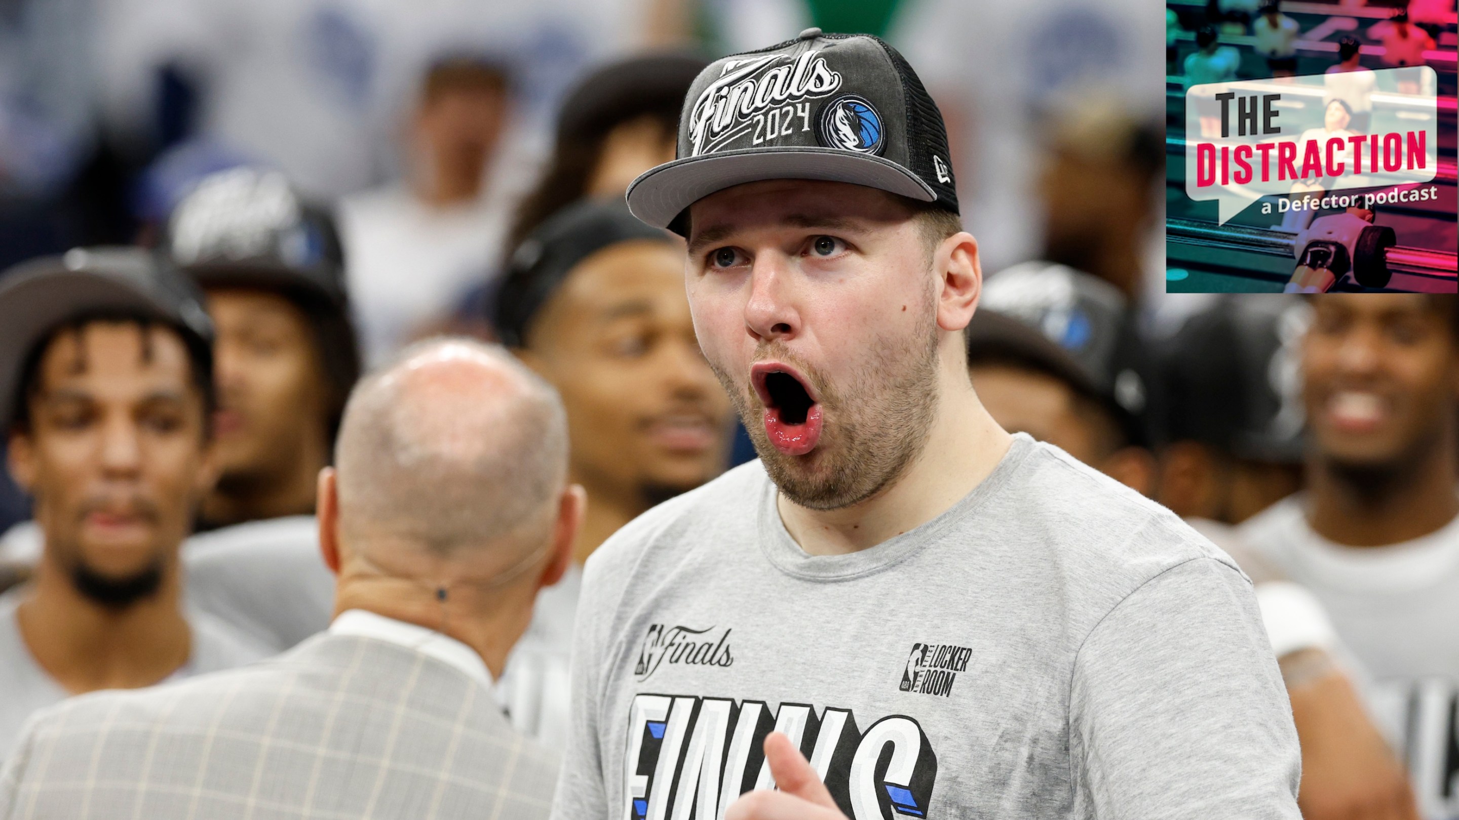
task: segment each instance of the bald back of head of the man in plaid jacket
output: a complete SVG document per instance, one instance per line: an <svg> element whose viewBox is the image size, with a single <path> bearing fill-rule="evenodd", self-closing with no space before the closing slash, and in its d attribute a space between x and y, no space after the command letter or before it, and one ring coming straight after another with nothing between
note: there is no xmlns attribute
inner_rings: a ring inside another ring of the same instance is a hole
<svg viewBox="0 0 1459 820"><path fill-rule="evenodd" d="M566 481L568 420L505 349L423 341L350 394L334 464L340 534L356 549L537 547Z"/></svg>

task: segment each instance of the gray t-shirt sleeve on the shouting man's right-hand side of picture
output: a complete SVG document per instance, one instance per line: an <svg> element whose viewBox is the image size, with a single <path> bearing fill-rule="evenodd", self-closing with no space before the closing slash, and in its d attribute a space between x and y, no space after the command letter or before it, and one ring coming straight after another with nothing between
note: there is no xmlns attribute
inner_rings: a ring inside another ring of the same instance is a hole
<svg viewBox="0 0 1459 820"><path fill-rule="evenodd" d="M1299 820L1301 756L1250 584L1215 559L1147 581L1080 648L1075 816Z"/></svg>

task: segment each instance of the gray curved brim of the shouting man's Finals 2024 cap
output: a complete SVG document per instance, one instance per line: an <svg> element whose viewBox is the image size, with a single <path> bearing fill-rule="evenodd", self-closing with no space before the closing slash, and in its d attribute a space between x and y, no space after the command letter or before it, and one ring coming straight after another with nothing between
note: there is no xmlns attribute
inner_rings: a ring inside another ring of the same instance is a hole
<svg viewBox="0 0 1459 820"><path fill-rule="evenodd" d="M824 179L880 188L929 203L932 188L890 159L829 147L741 149L676 159L629 185L629 210L654 228L670 228L686 207L744 182Z"/></svg>

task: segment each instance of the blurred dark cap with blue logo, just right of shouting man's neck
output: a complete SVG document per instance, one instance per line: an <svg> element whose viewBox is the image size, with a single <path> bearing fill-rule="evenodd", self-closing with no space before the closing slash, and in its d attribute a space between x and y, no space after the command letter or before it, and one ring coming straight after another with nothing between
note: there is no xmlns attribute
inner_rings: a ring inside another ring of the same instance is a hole
<svg viewBox="0 0 1459 820"><path fill-rule="evenodd" d="M1129 444L1148 442L1148 365L1113 285L1061 264L1014 266L988 277L966 333L970 366L1048 374L1106 407Z"/></svg>

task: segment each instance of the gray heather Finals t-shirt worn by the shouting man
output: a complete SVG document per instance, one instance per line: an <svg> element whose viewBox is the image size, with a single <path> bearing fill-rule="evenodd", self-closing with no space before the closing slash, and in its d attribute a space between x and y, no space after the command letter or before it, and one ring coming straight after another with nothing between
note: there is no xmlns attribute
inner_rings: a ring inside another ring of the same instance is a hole
<svg viewBox="0 0 1459 820"><path fill-rule="evenodd" d="M786 732L854 820L1293 819L1250 582L1026 435L938 518L808 556L759 463L588 560L557 820L708 820Z"/></svg>

